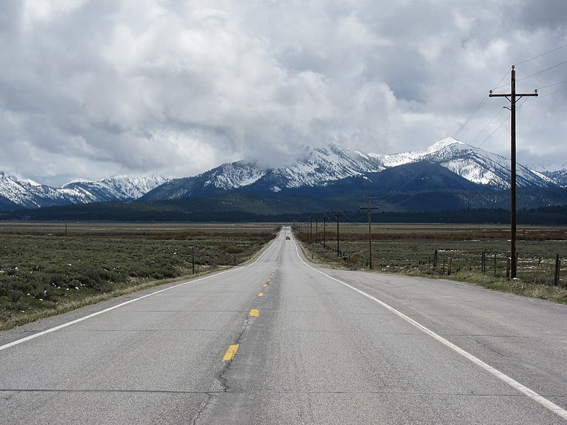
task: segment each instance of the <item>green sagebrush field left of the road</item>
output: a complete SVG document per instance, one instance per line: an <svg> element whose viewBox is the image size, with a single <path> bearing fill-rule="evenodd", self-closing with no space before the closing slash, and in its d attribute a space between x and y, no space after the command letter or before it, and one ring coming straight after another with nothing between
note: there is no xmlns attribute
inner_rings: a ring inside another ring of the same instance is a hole
<svg viewBox="0 0 567 425"><path fill-rule="evenodd" d="M0 329L243 263L277 231L242 224L0 223Z"/></svg>

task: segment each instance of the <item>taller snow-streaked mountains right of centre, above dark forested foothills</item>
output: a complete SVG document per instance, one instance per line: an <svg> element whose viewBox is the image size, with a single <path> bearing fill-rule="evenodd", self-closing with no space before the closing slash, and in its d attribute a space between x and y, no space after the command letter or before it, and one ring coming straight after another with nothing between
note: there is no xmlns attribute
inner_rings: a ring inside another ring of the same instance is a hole
<svg viewBox="0 0 567 425"><path fill-rule="evenodd" d="M410 164L437 164L462 179L493 189L510 188L510 160L483 149L447 138L424 152L364 154L339 145L306 148L304 159L293 166L262 169L250 162L232 162L198 176L173 179L142 196L141 200L172 200L242 193L288 193L297 189L325 188L346 179L363 178L370 183L383 171ZM437 170L440 169L437 167ZM465 184L465 183L463 183ZM517 186L555 188L566 184L517 165ZM305 190L304 190L305 191Z"/></svg>

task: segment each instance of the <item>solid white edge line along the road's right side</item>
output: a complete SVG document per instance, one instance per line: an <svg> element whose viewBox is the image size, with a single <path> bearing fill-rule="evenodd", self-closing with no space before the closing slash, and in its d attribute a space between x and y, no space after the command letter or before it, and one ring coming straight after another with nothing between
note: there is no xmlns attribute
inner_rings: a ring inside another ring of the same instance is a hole
<svg viewBox="0 0 567 425"><path fill-rule="evenodd" d="M451 348L451 350L455 351L456 353L459 353L461 356L463 356L464 358L467 358L469 361L475 363L476 365L480 366L481 368L483 368L484 370L486 370L487 372L491 373L492 375L494 375L496 378L503 380L504 382L506 382L508 385L510 385L510 387L515 388L516 390L522 392L524 395L527 395L527 397L533 399L534 401L538 402L539 404L541 404L543 407L545 407L546 409L551 410L551 412L554 412L554 414L561 416L561 418L566 419L567 420L567 411L565 409L563 409L562 407L558 406L557 404L555 404L554 402L551 402L549 399L546 399L545 397L537 394L537 392L530 390L528 387L526 387L525 385L520 384L520 382L517 382L517 380L510 378L510 376L505 375L505 373L500 372L500 370L493 368L491 365L488 365L487 363L484 363L480 358L477 358L475 356L473 356L471 353L468 353L467 351L464 351L463 348L460 348L459 346L456 346L455 344L453 344L450 341L447 341L447 339L444 339L442 336L436 334L434 331L432 331L431 329L428 329L427 327L423 326L422 324L416 322L414 319L412 319L411 317L406 316L405 314L403 314L402 312L399 312L398 310L395 310L394 307L391 307L391 305L386 304L386 302L383 302L381 300L378 300L378 298L373 297L372 295L369 295L367 293L365 293L362 290L359 290L358 288L354 288L354 286L349 285L348 283L344 283L342 280L339 280L337 278L333 278L332 276L327 275L327 273L322 272L320 270L317 270L316 268L310 266L308 263L305 263L305 261L303 261L303 259L301 258L301 255L299 254L299 250L298 250L298 246L296 244L295 241L293 241L293 244L296 246L296 253L297 256L299 258L299 260L305 264L305 266L308 266L309 268L311 268L312 270L316 271L317 273L322 274L323 276L326 276L327 278L330 278L332 280L335 280L336 282L346 286L347 288L350 288L354 291L356 291L357 293L364 295L365 297L369 298L370 300L373 300L374 302L377 302L379 305L381 305L382 307L390 310L391 312L393 312L394 314L396 314L398 317L401 317L402 319L404 319L406 322L412 324L413 326L417 327L417 329L420 329L420 331L425 332L425 334L432 336L434 339L437 339L437 341L439 341L440 343L444 344L445 346Z"/></svg>

